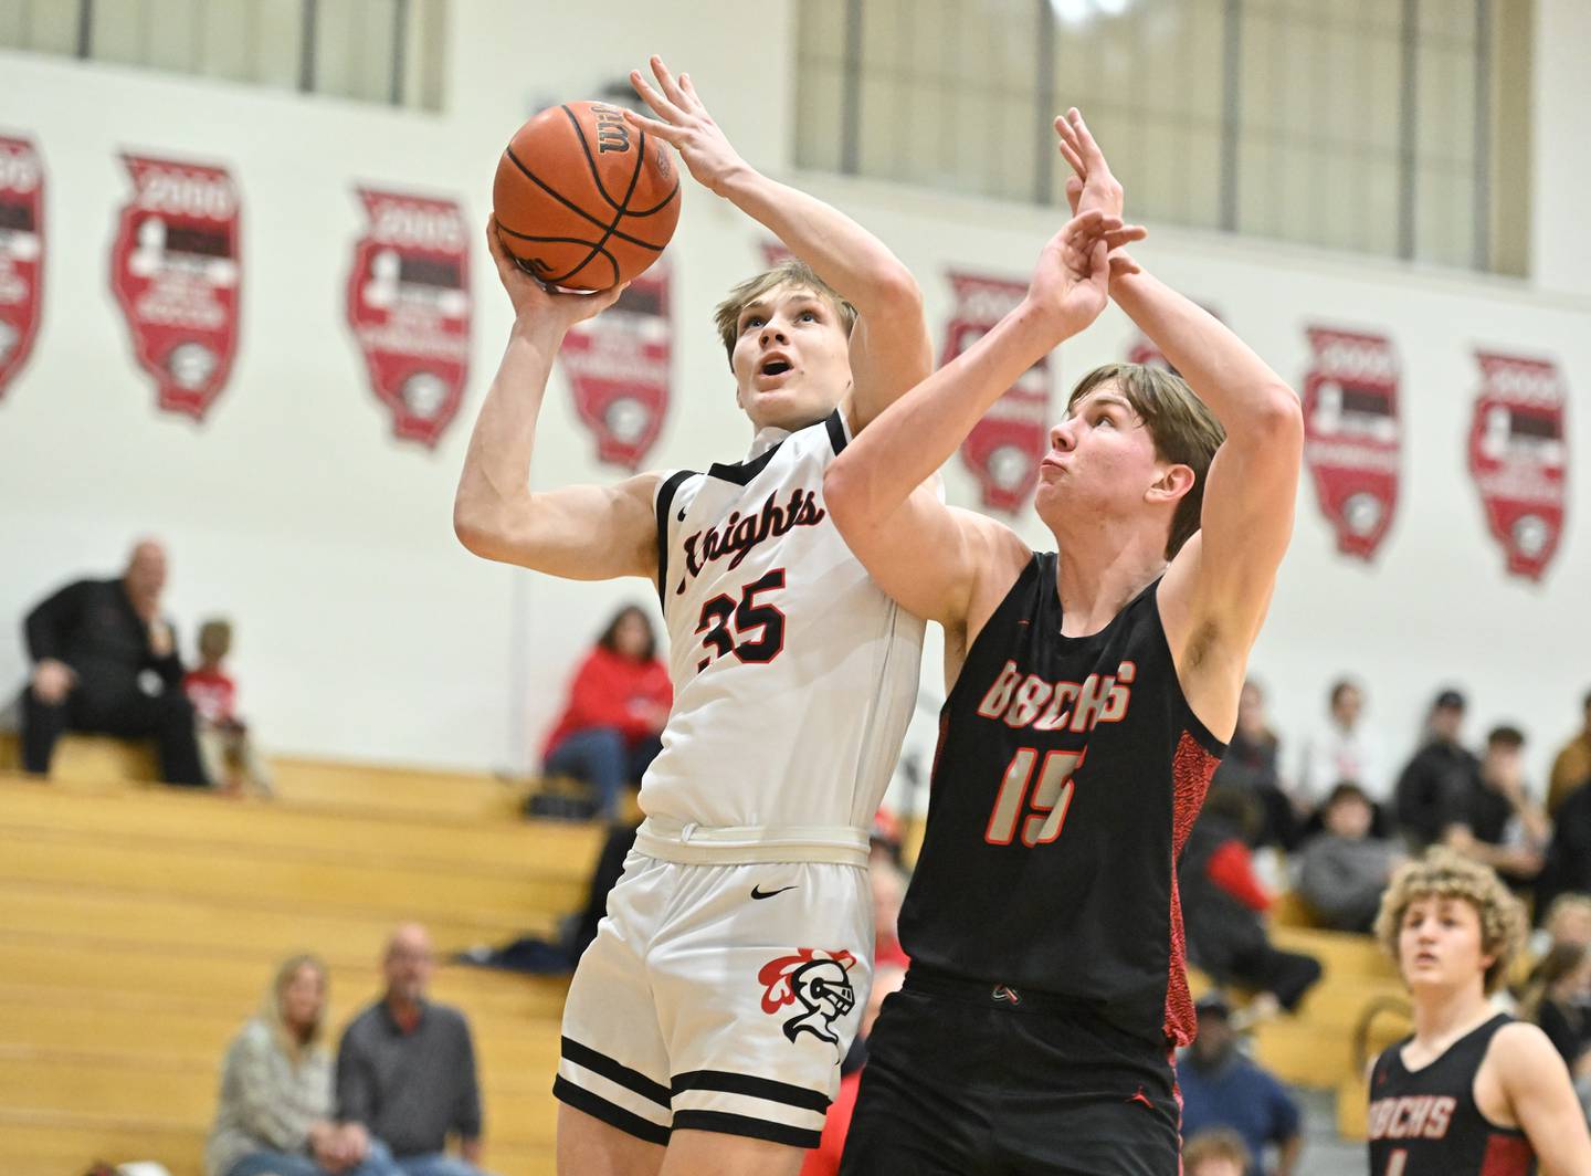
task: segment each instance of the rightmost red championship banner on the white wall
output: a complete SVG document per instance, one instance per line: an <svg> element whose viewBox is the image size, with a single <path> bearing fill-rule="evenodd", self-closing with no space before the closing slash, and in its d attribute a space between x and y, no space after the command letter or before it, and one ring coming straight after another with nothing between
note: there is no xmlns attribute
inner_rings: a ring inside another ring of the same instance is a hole
<svg viewBox="0 0 1591 1176"><path fill-rule="evenodd" d="M1481 390L1470 423L1470 474L1508 571L1540 579L1564 533L1569 391L1550 360L1476 352Z"/></svg>

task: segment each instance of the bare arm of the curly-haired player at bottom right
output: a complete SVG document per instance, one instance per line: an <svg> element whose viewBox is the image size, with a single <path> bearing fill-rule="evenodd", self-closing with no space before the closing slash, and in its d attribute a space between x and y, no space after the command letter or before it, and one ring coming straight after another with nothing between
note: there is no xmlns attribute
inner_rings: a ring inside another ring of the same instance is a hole
<svg viewBox="0 0 1591 1176"><path fill-rule="evenodd" d="M1497 1030L1488 1050L1542 1176L1591 1173L1591 1133L1558 1049L1535 1025Z"/></svg>

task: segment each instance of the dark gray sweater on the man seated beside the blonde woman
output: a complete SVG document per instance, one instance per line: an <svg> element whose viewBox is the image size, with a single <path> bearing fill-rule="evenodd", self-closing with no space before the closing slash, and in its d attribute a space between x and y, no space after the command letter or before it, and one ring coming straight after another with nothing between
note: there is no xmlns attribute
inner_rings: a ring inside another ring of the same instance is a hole
<svg viewBox="0 0 1591 1176"><path fill-rule="evenodd" d="M355 1017L337 1049L337 1111L398 1158L447 1146L450 1131L480 1138L480 1087L469 1023L445 1004L422 1004L404 1033L385 1003Z"/></svg>

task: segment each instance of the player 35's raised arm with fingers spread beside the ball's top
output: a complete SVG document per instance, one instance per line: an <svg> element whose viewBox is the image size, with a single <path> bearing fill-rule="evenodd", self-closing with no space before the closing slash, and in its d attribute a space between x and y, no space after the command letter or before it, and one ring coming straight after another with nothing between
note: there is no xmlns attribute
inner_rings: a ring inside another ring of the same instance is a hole
<svg viewBox="0 0 1591 1176"><path fill-rule="evenodd" d="M932 369L923 293L910 271L845 213L756 172L713 121L690 76L676 80L659 57L651 65L657 89L640 72L630 81L657 119L625 116L673 143L702 186L760 221L856 307L848 415L851 430L861 430Z"/></svg>

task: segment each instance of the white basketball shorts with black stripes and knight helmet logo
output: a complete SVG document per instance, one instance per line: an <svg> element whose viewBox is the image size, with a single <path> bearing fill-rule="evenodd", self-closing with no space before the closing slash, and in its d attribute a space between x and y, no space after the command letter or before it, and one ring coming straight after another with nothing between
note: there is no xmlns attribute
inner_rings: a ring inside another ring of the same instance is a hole
<svg viewBox="0 0 1591 1176"><path fill-rule="evenodd" d="M816 1147L872 985L866 866L640 850L563 1011L552 1093L641 1139Z"/></svg>

